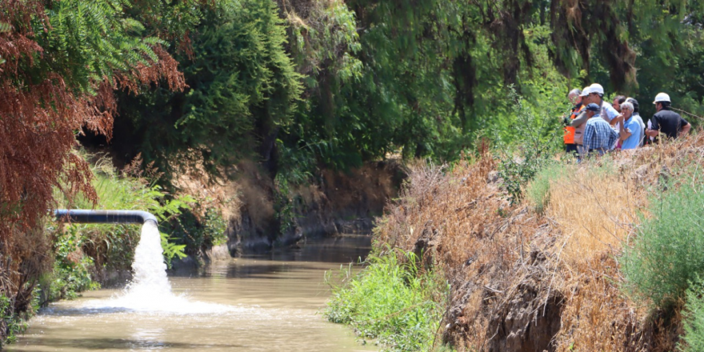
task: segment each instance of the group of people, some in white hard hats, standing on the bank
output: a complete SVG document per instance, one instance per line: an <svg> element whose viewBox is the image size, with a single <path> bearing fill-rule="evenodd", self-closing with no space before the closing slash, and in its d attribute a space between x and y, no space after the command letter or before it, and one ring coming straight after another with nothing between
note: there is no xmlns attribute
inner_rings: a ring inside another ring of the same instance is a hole
<svg viewBox="0 0 704 352"><path fill-rule="evenodd" d="M616 149L636 149L658 139L675 139L689 133L691 124L672 111L670 96L659 93L653 104L657 113L643 122L636 99L616 96L604 101L604 88L594 83L584 90L572 89L567 99L574 104L565 124L565 151L582 157L603 155ZM647 137L647 138L646 138Z"/></svg>

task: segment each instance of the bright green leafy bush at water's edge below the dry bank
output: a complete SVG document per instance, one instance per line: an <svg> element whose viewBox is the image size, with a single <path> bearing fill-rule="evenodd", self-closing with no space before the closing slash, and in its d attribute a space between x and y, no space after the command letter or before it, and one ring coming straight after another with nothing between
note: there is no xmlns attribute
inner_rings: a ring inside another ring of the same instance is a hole
<svg viewBox="0 0 704 352"><path fill-rule="evenodd" d="M435 298L445 297L446 282L399 263L394 253L370 256L367 263L357 275L351 267L342 270L346 282L333 289L328 320L351 325L363 339L378 339L386 351L427 351L444 312Z"/></svg>

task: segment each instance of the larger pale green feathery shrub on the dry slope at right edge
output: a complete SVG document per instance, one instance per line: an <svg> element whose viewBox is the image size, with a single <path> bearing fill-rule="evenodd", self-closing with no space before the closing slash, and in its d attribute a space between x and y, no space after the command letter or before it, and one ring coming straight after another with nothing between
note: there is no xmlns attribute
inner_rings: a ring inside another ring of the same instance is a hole
<svg viewBox="0 0 704 352"><path fill-rule="evenodd" d="M704 275L704 187L691 180L653 199L622 258L626 289L635 298L668 308L684 298L689 282Z"/></svg>

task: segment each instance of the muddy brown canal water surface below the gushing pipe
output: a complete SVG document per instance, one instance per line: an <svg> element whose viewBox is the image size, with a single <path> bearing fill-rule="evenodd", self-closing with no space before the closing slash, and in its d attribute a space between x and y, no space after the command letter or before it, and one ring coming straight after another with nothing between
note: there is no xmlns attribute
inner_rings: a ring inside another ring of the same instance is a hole
<svg viewBox="0 0 704 352"><path fill-rule="evenodd" d="M372 351L320 314L326 270L369 251L368 237L338 237L169 277L170 307L115 306L120 290L87 292L30 320L8 351ZM158 305L157 303L155 303Z"/></svg>

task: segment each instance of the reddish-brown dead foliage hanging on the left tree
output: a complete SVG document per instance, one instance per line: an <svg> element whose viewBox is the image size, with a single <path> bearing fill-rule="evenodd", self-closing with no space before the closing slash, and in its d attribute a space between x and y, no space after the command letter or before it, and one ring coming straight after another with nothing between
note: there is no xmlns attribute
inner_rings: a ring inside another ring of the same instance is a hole
<svg viewBox="0 0 704 352"><path fill-rule="evenodd" d="M41 221L55 206L54 187L69 199L80 192L98 201L88 163L72 152L75 133L87 128L111 137L115 89L136 91L159 80L182 89L184 81L173 58L155 46L158 61L94 80L86 89L93 93L78 92L67 83L77 78L70 70L37 65L56 55L39 45L32 29L34 21L34 27L51 30L45 14L51 1L0 3L0 22L11 25L0 33L0 56L7 61L0 65L0 294L19 313L39 275L50 270L51 247ZM0 330L0 339L4 334Z"/></svg>

